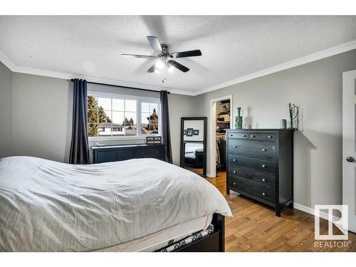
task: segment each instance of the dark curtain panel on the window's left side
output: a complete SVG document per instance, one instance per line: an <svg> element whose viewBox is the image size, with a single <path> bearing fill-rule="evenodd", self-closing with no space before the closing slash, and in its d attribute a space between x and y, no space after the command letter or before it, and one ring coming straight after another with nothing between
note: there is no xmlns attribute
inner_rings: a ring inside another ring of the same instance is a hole
<svg viewBox="0 0 356 267"><path fill-rule="evenodd" d="M70 164L89 164L87 81L74 79Z"/></svg>

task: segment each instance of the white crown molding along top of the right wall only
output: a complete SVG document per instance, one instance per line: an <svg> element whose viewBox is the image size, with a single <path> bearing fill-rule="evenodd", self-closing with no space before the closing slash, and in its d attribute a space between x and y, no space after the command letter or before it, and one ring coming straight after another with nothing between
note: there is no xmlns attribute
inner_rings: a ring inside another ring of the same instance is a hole
<svg viewBox="0 0 356 267"><path fill-rule="evenodd" d="M218 89L221 89L221 88L225 88L225 87L228 87L228 86L231 86L231 85L235 85L235 84L238 84L238 83L244 83L247 80L253 80L253 79L256 79L258 77L262 77L262 76L265 76L265 75L268 75L268 74L271 74L271 73L277 73L277 72L279 72L281 70L286 70L288 68L294 68L296 66L300 66L300 65L303 65L303 64L306 64L306 63L310 63L310 62L313 62L313 61L318 61L320 59L328 58L330 56L335 56L337 54L344 53L344 52L347 52L347 51L351 51L351 50L354 50L354 49L356 49L356 40L355 41L350 41L348 43L342 43L340 46L334 46L332 48L328 48L328 49L325 49L323 51L310 54L308 56L303 56L302 58L297 58L297 59L295 59L293 61L288 61L286 63L282 63L280 65L276 65L276 66L273 66L271 68L266 68L264 70L259 70L256 73L251 73L251 74L248 74L248 75L244 75L244 76L236 78L234 80L229 80L227 82L220 83L218 85L214 85L214 86L211 86L209 88L205 88L203 90L199 90L197 92L194 92L195 93L194 95L201 95L203 93L208 93L208 92L211 92L211 91L214 91L214 90L218 90Z"/></svg>

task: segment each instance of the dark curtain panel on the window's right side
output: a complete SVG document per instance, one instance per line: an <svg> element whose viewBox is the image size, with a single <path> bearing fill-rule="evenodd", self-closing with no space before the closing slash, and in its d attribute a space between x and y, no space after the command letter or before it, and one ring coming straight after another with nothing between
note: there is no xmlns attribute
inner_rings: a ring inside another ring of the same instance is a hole
<svg viewBox="0 0 356 267"><path fill-rule="evenodd" d="M168 93L163 90L161 91L161 109L162 142L166 145L167 162L172 163L171 134L169 132Z"/></svg>

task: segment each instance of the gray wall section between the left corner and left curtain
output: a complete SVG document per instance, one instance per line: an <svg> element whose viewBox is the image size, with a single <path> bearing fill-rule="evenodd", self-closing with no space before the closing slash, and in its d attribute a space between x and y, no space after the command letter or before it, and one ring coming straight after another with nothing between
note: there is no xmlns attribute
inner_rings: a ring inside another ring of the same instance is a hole
<svg viewBox="0 0 356 267"><path fill-rule="evenodd" d="M68 162L72 127L68 80L13 73L13 153Z"/></svg>

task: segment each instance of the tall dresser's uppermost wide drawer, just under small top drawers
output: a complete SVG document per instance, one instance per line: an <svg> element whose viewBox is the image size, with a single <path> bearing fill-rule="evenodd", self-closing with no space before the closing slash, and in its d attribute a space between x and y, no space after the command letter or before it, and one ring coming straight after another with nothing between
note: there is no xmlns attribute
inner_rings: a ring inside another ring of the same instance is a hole
<svg viewBox="0 0 356 267"><path fill-rule="evenodd" d="M252 155L264 159L275 158L274 142L229 140L229 153L236 155Z"/></svg>

